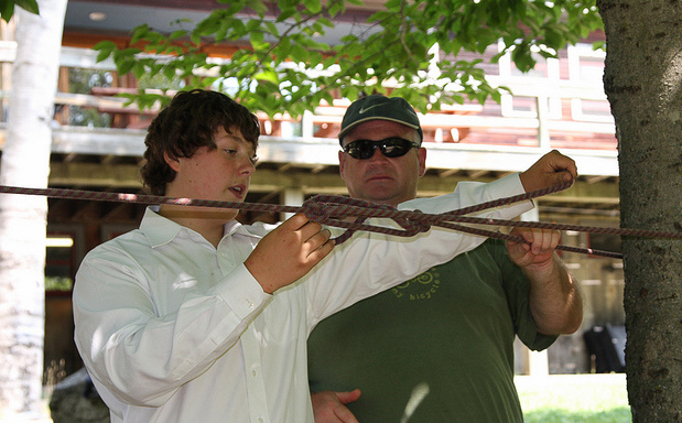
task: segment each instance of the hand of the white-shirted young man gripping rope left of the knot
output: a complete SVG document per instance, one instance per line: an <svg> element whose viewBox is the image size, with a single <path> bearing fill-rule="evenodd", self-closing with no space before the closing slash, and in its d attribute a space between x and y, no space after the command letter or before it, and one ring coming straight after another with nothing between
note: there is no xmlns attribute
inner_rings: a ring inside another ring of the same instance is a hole
<svg viewBox="0 0 682 423"><path fill-rule="evenodd" d="M306 274L334 248L328 229L297 214L268 234L243 262L271 294Z"/></svg>

